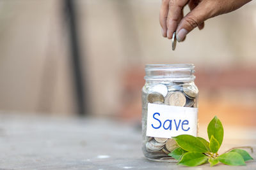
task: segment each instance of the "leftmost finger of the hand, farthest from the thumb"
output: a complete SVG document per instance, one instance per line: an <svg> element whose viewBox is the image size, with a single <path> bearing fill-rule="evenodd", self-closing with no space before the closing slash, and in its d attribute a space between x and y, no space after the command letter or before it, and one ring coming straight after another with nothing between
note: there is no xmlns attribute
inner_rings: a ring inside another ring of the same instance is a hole
<svg viewBox="0 0 256 170"><path fill-rule="evenodd" d="M169 10L169 1L170 0L162 1L160 15L159 15L159 22L162 27L162 34L164 37L166 37L167 35L166 19L167 19L168 10Z"/></svg>

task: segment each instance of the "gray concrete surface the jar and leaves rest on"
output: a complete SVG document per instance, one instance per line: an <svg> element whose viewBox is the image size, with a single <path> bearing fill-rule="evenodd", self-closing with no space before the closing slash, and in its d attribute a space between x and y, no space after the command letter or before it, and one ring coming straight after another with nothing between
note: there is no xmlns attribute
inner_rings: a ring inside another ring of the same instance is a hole
<svg viewBox="0 0 256 170"><path fill-rule="evenodd" d="M255 129L248 129L255 134ZM256 149L256 140L237 141ZM225 145L230 148L232 145ZM256 158L255 152L252 153ZM106 118L56 118L0 114L1 169L256 169L152 162L141 152L139 125Z"/></svg>

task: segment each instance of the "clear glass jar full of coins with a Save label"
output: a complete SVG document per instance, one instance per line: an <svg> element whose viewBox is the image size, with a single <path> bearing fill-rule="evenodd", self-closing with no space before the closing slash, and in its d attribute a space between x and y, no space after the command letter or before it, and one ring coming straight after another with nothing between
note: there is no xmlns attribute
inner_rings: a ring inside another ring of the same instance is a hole
<svg viewBox="0 0 256 170"><path fill-rule="evenodd" d="M147 159L172 162L178 147L172 137L196 136L198 89L193 64L148 64L142 89L143 153Z"/></svg>

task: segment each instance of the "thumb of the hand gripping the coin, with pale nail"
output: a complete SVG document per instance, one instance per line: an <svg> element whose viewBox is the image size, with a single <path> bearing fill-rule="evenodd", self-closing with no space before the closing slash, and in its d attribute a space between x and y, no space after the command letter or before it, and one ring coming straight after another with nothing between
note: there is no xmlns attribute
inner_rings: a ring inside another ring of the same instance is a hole
<svg viewBox="0 0 256 170"><path fill-rule="evenodd" d="M207 9L207 7L200 3L196 8L190 11L182 20L180 21L177 30L176 30L176 38L177 41L184 41L186 35L204 23L207 18L210 18L211 10Z"/></svg>

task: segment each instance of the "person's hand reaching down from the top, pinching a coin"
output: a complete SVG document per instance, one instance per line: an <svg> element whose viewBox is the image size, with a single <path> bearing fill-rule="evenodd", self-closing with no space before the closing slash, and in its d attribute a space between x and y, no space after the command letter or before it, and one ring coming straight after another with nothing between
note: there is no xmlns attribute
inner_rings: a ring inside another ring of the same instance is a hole
<svg viewBox="0 0 256 170"><path fill-rule="evenodd" d="M176 31L177 41L184 41L195 27L204 28L208 18L237 10L251 0L162 0L160 25L164 37L172 38ZM184 17L183 8L188 4L190 12Z"/></svg>

